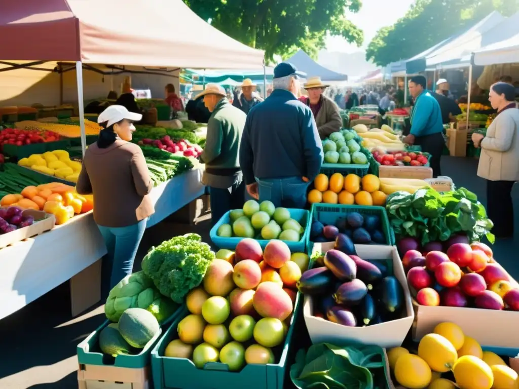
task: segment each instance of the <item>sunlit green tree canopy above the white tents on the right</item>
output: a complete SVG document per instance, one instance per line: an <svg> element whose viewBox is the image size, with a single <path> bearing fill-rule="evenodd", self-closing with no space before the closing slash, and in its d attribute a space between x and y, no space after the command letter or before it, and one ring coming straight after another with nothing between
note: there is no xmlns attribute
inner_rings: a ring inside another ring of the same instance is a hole
<svg viewBox="0 0 519 389"><path fill-rule="evenodd" d="M497 10L511 16L516 0L416 0L395 24L382 27L366 50L366 60L379 66L405 60L462 32Z"/></svg>

